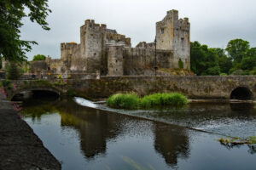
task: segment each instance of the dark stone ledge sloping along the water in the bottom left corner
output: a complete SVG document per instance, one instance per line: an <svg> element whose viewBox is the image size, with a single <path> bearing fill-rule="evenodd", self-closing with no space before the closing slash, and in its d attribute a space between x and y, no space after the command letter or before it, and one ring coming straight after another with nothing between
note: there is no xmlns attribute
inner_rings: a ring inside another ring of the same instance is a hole
<svg viewBox="0 0 256 170"><path fill-rule="evenodd" d="M0 169L61 169L61 163L2 93L0 125Z"/></svg>

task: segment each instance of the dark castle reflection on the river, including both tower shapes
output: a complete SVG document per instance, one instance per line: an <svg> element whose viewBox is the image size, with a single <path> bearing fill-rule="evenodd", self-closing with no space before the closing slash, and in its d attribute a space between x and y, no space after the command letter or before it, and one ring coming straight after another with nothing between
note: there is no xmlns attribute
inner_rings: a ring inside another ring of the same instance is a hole
<svg viewBox="0 0 256 170"><path fill-rule="evenodd" d="M51 105L40 105L40 107L26 106L22 115L31 116L32 119L36 117L39 121L41 116L50 112L57 112L61 116L61 127L77 129L80 149L88 159L106 155L108 140L115 140L122 133L131 133L129 131L134 130L131 128L141 126L132 117L84 108L74 103L73 100L67 99ZM154 148L164 157L167 164L175 167L177 157L186 159L189 156L189 137L185 128L160 123L154 123L154 126L146 128L152 130L151 133L154 132ZM148 135L147 130L142 133ZM138 130L132 133L138 133ZM127 160L131 162L131 158L127 156L120 156L120 158L125 162Z"/></svg>

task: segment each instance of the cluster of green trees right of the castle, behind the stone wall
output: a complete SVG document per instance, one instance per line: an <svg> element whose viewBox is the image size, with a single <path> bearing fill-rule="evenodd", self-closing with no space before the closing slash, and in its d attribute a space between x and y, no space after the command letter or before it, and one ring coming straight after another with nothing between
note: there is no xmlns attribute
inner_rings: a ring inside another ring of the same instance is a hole
<svg viewBox="0 0 256 170"><path fill-rule="evenodd" d="M242 39L230 40L225 49L191 42L190 58L197 75L256 75L256 48Z"/></svg>

